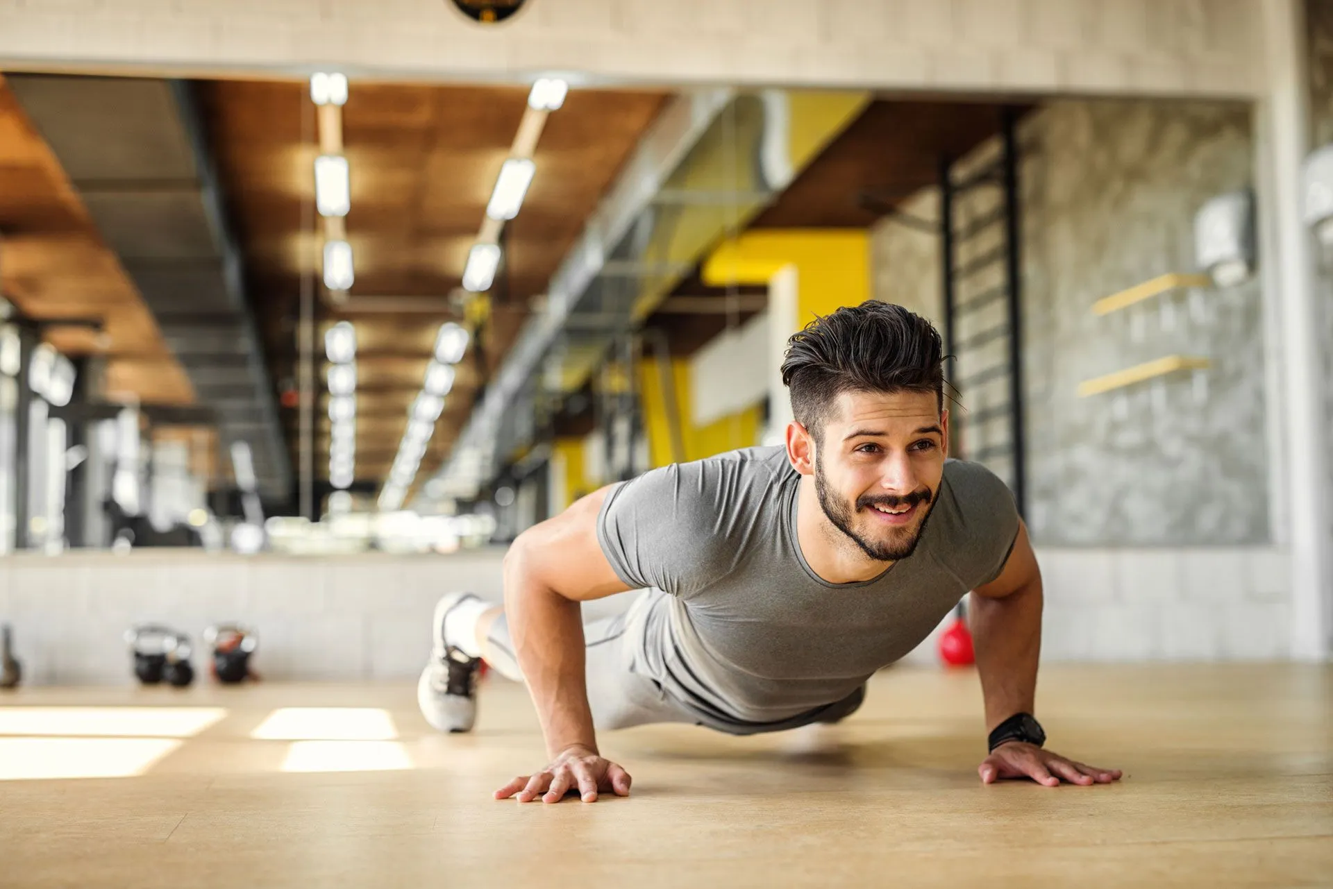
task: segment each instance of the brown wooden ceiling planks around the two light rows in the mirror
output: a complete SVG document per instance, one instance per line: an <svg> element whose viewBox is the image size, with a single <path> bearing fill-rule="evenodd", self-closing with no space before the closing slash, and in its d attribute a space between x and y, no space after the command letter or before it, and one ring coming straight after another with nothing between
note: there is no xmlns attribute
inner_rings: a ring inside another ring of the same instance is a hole
<svg viewBox="0 0 1333 889"><path fill-rule="evenodd" d="M303 223L307 231L313 223L315 108L307 85L295 81L207 81L199 95L245 253L249 296L281 381L295 375L301 276L317 272L319 241L303 235ZM508 224L507 277L496 288L500 299L480 344L492 371L512 347L531 299L545 291L664 100L656 92L572 91L548 117L533 156L536 177L523 212ZM460 287L525 107L527 91L513 87L351 84L343 141L351 168L347 233L356 267L353 300L443 299ZM325 323L349 317L356 324L357 476L381 480L435 333L457 316L343 312L323 293L320 316ZM471 356L464 364L419 480L433 472L467 421L481 380ZM295 411L287 413L295 448ZM327 431L327 417L317 427ZM327 432L317 432L316 441L316 470L323 476ZM373 452L360 446L372 444Z"/></svg>

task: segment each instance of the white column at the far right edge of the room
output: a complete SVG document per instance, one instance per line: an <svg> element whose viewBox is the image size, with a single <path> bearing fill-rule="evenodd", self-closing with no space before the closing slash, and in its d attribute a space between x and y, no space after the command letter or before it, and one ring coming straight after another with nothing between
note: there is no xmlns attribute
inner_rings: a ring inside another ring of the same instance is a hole
<svg viewBox="0 0 1333 889"><path fill-rule="evenodd" d="M1310 233L1301 221L1301 163L1309 144L1309 77L1304 0L1265 0L1268 93L1260 107L1261 144L1270 163L1285 429L1288 541L1292 558L1292 654L1329 653L1330 582L1328 417ZM1272 280L1272 279L1270 279Z"/></svg>

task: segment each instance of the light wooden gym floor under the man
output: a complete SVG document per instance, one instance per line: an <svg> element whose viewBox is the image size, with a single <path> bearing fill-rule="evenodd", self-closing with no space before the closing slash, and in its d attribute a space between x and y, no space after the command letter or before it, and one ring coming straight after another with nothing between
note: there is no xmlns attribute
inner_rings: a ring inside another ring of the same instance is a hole
<svg viewBox="0 0 1333 889"><path fill-rule="evenodd" d="M889 670L822 738L608 734L592 805L491 798L543 757L483 694L455 737L411 682L0 697L0 885L1333 886L1333 668L1045 669L1050 746L1126 772L1060 789L978 782L974 676Z"/></svg>

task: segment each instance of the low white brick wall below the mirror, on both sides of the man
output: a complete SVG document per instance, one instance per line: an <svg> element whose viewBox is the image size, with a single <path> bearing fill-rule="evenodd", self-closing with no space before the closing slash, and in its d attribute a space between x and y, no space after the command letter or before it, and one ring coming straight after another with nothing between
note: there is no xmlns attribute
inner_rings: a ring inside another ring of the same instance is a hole
<svg viewBox="0 0 1333 889"><path fill-rule="evenodd" d="M1270 660L1290 637L1277 549L1038 549L1042 660ZM204 626L260 633L255 668L287 680L409 680L429 650L439 596L499 601L500 550L328 560L199 553L73 553L0 560L0 620L35 684L129 681L124 630L161 621L201 645ZM589 617L629 596L585 605ZM945 621L948 622L948 621ZM908 657L936 664L934 636ZM203 668L203 657L196 657Z"/></svg>

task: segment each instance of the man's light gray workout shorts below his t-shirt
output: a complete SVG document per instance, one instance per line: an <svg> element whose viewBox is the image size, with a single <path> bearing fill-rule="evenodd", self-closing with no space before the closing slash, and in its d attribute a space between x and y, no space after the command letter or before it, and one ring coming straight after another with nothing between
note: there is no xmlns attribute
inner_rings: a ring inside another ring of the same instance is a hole
<svg viewBox="0 0 1333 889"><path fill-rule="evenodd" d="M865 688L861 686L841 701L777 722L742 722L692 708L668 694L637 654L644 649L645 604L647 598L621 614L584 624L588 705L593 728L599 732L661 722L706 725L728 734L781 732L810 722L837 722L856 712L865 698ZM487 662L503 676L521 682L523 672L513 653L507 616L501 614L491 625L487 642Z"/></svg>

